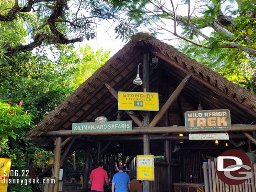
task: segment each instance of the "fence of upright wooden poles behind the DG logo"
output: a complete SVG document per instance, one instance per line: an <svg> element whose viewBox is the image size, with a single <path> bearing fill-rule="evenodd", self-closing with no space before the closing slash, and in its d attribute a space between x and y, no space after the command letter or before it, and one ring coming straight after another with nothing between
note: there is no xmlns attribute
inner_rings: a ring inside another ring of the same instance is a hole
<svg viewBox="0 0 256 192"><path fill-rule="evenodd" d="M208 159L203 163L204 169L204 191L205 192L255 192L256 186L256 164L253 164L252 178L247 179L240 185L228 185L222 182L215 170L217 158L214 161Z"/></svg>

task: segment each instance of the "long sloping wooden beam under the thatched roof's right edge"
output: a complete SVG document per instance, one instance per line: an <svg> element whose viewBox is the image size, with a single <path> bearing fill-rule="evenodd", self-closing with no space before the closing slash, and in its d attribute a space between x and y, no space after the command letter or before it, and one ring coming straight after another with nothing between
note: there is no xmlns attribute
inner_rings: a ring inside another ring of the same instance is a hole
<svg viewBox="0 0 256 192"><path fill-rule="evenodd" d="M160 57L162 60L164 60L164 61L170 63L171 65L173 65L174 67L178 68L183 73L190 74L190 72L188 72L186 69L184 69L183 67L178 65L176 62L172 61L169 57L167 57L167 56L163 55L162 53L158 52L157 50L151 49L150 51L153 54L155 54L157 57ZM252 109L249 109L245 105L241 104L240 101L237 101L234 98L228 96L226 93L223 93L220 89L214 87L211 83L206 82L205 80L201 79L200 77L198 77L196 75L193 75L193 79L197 80L199 83L203 84L204 86L211 89L212 91L218 93L220 96L224 97L225 99L231 101L233 104L236 104L241 109L243 109L244 111L251 114L253 117L256 117L256 112L255 111L253 111Z"/></svg>

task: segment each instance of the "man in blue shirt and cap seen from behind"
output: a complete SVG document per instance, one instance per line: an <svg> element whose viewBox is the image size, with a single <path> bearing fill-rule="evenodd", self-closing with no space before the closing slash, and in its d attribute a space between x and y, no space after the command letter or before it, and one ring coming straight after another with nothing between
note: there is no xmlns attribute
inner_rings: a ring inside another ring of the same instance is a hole
<svg viewBox="0 0 256 192"><path fill-rule="evenodd" d="M130 177L124 172L124 166L118 166L118 173L112 179L112 192L129 192L130 191Z"/></svg>

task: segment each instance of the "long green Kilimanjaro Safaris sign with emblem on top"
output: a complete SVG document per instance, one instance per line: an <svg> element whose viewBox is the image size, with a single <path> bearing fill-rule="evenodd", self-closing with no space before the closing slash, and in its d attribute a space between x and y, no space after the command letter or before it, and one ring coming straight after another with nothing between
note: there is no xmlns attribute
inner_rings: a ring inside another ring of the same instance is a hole
<svg viewBox="0 0 256 192"><path fill-rule="evenodd" d="M106 118L107 119L107 118ZM72 133L82 132L122 132L132 130L132 121L109 121L97 117L95 122L73 123Z"/></svg>

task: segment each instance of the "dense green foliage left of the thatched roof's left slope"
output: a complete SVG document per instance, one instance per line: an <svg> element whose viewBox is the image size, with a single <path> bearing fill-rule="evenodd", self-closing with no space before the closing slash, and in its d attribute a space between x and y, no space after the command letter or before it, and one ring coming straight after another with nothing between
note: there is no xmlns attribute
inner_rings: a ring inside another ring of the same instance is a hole
<svg viewBox="0 0 256 192"><path fill-rule="evenodd" d="M110 53L103 50L94 53L89 46L79 52L64 45L52 50L54 61L44 54L25 52L0 65L0 132L4 133L0 134L1 157L12 158L11 169L19 172L39 170L43 163L49 163L53 154L32 144L26 133L86 80L91 71L107 61ZM32 189L31 185L10 184L8 190Z"/></svg>

